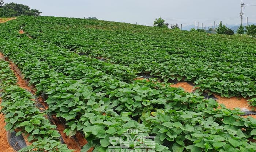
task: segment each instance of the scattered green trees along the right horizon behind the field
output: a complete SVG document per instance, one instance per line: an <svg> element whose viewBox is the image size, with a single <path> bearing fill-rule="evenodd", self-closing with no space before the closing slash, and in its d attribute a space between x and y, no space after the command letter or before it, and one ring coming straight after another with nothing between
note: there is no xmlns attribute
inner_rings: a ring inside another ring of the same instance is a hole
<svg viewBox="0 0 256 152"><path fill-rule="evenodd" d="M169 28L169 23L165 23L165 20L161 18L161 16L158 19L154 20L154 27L160 27L160 28ZM245 30L246 28L246 30ZM178 24L171 24L170 29L180 29L178 27ZM213 29L211 28L211 31ZM197 29L194 28L191 29L191 31L198 31L198 32L205 32L203 29ZM252 37L256 37L256 26L254 24L244 27L241 25L238 30L236 31L237 34L248 34ZM226 27L222 22L219 23L219 26L216 28L217 34L226 34L226 35L234 35L234 30L231 30L230 28Z"/></svg>

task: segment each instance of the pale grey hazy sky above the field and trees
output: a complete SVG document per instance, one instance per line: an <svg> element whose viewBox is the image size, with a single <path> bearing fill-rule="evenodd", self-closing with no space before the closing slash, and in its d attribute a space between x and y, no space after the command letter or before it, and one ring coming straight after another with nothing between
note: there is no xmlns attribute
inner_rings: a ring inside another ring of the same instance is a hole
<svg viewBox="0 0 256 152"><path fill-rule="evenodd" d="M161 16L169 24L210 26L241 24L241 0L4 0L39 9L42 16L97 17L101 20L153 26ZM244 20L256 23L256 0L243 0Z"/></svg>

